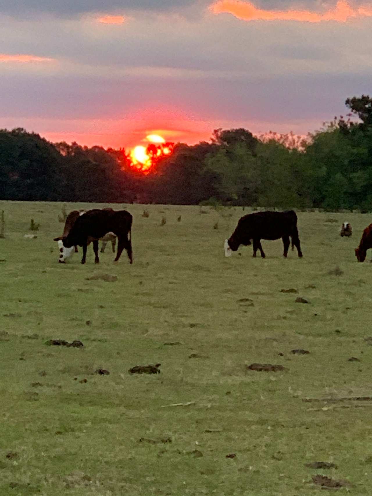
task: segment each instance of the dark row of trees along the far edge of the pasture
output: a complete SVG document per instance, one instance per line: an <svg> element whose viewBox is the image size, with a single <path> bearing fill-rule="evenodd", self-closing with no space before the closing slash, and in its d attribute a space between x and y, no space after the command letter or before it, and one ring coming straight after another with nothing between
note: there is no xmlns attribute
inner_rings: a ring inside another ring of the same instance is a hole
<svg viewBox="0 0 372 496"><path fill-rule="evenodd" d="M122 149L1 129L0 199L371 211L372 99L345 103L346 118L323 123L306 140L216 129L209 142L176 144L148 174L131 167Z"/></svg>

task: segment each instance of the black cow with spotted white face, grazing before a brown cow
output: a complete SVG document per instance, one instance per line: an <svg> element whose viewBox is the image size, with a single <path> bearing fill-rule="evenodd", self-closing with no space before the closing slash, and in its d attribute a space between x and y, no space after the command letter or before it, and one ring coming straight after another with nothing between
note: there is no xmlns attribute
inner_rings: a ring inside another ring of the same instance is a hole
<svg viewBox="0 0 372 496"><path fill-rule="evenodd" d="M118 237L118 252L115 261L119 260L125 248L129 261L132 263L131 227L132 216L126 210L119 210L118 212L114 212L112 209L88 210L88 212L76 219L66 236L61 236L54 240L62 242L62 251L75 245L83 247L81 263L85 263L87 245L91 239L95 254L94 262L98 263L98 240L102 239L107 233L112 233Z"/></svg>

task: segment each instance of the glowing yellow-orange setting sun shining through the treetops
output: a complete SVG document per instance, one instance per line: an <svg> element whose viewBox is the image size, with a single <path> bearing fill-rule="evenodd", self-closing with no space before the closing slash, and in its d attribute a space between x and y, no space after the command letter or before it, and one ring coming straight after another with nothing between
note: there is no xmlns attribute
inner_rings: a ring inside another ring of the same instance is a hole
<svg viewBox="0 0 372 496"><path fill-rule="evenodd" d="M131 167L146 173L159 158L172 153L174 143L166 142L159 134L148 134L143 141L148 141L149 144L135 146L129 151L127 158Z"/></svg>

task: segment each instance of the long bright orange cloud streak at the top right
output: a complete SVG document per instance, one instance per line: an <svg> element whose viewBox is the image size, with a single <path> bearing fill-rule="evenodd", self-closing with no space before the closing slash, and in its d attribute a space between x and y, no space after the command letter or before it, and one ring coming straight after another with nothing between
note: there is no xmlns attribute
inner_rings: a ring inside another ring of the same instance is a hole
<svg viewBox="0 0 372 496"><path fill-rule="evenodd" d="M245 21L346 22L351 18L372 16L372 7L353 8L346 0L339 0L335 7L322 13L311 10L264 10L249 1L240 0L218 0L210 8L215 14L229 13Z"/></svg>

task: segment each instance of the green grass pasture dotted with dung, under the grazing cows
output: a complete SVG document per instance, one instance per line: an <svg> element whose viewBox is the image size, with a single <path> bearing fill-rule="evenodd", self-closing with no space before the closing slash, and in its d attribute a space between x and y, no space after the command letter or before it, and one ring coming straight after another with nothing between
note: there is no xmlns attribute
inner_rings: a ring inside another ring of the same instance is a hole
<svg viewBox="0 0 372 496"><path fill-rule="evenodd" d="M263 260L224 257L247 209L113 207L133 215L133 265L110 245L61 265L62 204L0 202L0 495L320 495L316 475L371 495L372 401L340 400L372 395L372 265L354 255L371 216L298 212L304 258L279 240Z"/></svg>

